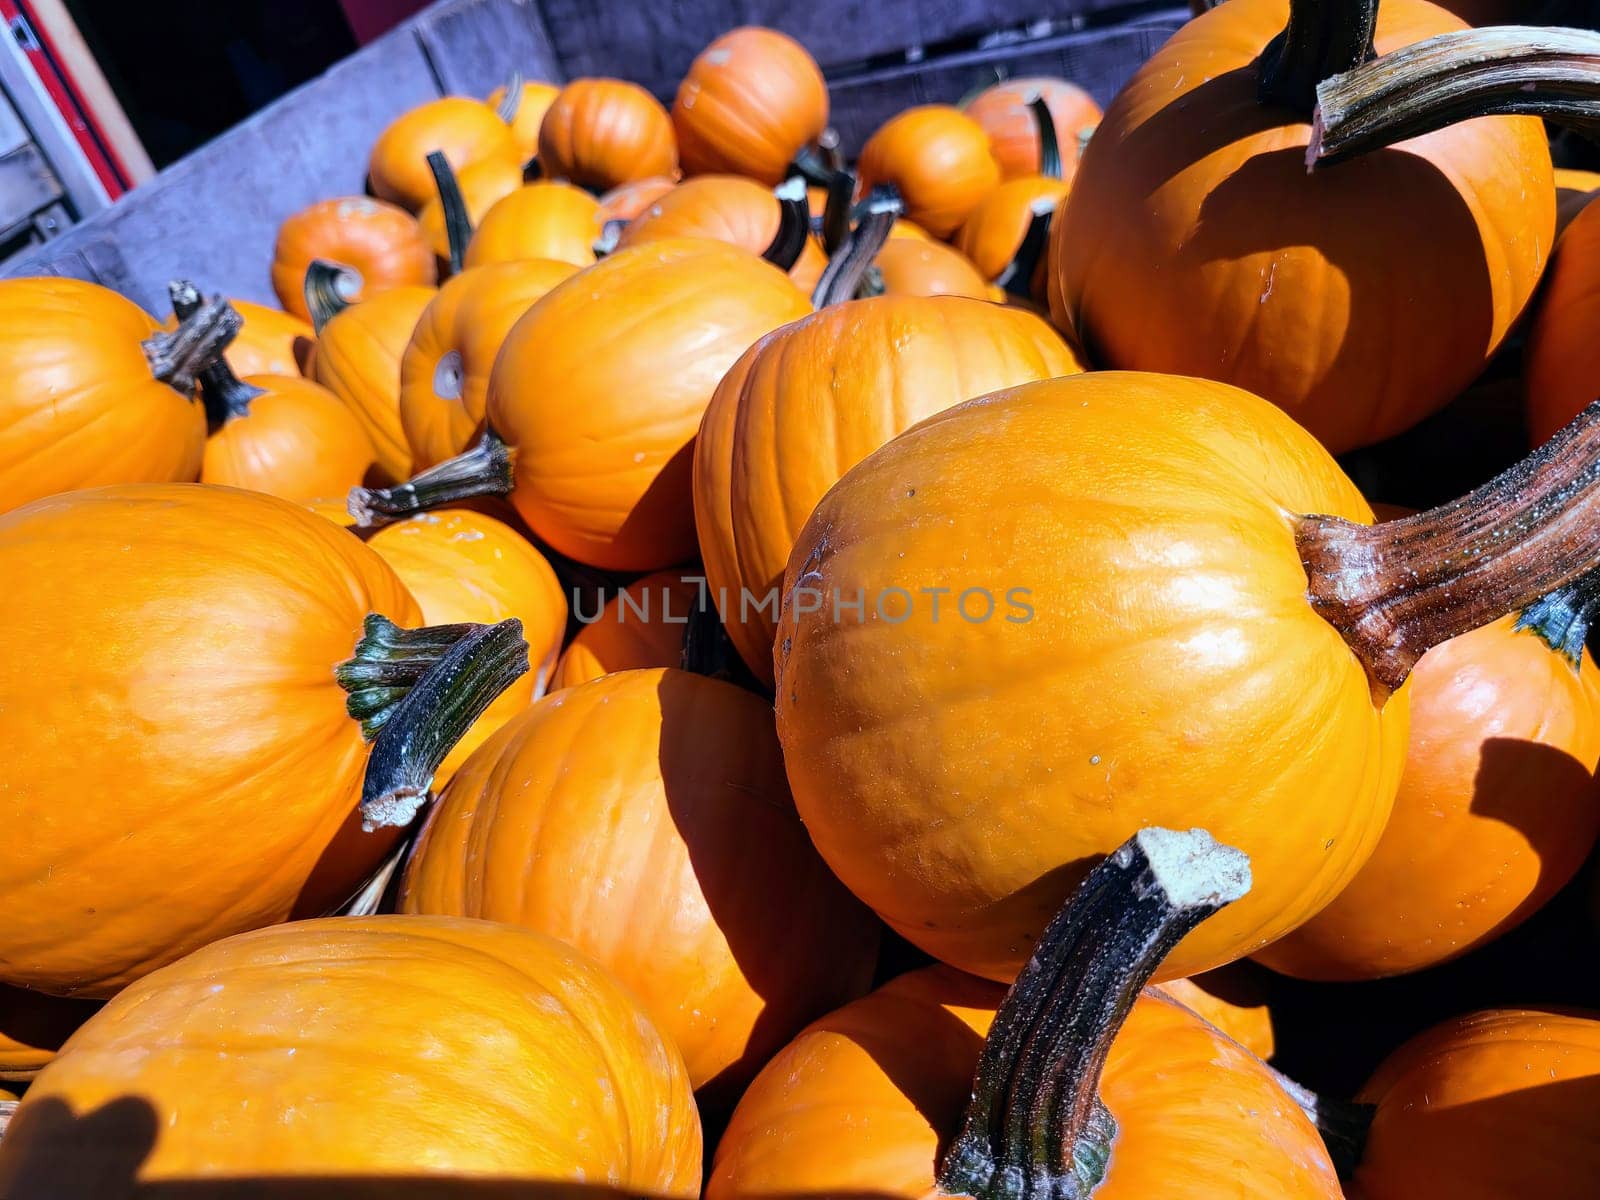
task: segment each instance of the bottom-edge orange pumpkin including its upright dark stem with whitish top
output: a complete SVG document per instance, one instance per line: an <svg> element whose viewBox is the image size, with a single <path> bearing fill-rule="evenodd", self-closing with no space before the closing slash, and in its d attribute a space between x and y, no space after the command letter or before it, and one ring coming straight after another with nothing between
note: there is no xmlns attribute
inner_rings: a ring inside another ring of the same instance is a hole
<svg viewBox="0 0 1600 1200"><path fill-rule="evenodd" d="M1139 990L1184 928L1250 886L1206 842L1141 834L1008 994L931 966L814 1022L739 1101L706 1200L1338 1200L1317 1128L1272 1072ZM1179 846L1202 858L1162 861Z"/></svg>

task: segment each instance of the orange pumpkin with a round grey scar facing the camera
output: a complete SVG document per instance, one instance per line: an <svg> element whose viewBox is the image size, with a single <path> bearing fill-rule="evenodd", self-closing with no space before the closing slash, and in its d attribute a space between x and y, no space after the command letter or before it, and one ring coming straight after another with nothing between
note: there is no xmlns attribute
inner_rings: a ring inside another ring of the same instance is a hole
<svg viewBox="0 0 1600 1200"><path fill-rule="evenodd" d="M400 358L400 426L416 470L477 440L506 334L574 274L578 267L555 259L494 262L469 267L438 290Z"/></svg>

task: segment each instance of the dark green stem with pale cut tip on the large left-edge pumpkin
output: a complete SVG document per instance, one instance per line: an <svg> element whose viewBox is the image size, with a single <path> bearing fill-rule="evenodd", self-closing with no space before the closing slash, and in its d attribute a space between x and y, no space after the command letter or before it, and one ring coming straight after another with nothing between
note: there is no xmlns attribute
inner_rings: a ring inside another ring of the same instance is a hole
<svg viewBox="0 0 1600 1200"><path fill-rule="evenodd" d="M334 669L346 709L373 742L362 786L362 827L408 826L434 773L483 710L528 674L522 621L400 629L366 618L355 656Z"/></svg>

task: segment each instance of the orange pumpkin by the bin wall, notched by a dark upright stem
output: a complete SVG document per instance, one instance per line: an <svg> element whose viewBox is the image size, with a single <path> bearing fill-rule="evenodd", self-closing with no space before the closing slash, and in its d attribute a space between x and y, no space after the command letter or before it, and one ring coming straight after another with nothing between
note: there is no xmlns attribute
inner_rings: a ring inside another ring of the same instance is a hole
<svg viewBox="0 0 1600 1200"><path fill-rule="evenodd" d="M403 112L378 134L366 174L373 194L413 213L437 187L427 155L440 150L459 176L474 163L499 158L520 168L517 141L494 109L469 96L445 96Z"/></svg>

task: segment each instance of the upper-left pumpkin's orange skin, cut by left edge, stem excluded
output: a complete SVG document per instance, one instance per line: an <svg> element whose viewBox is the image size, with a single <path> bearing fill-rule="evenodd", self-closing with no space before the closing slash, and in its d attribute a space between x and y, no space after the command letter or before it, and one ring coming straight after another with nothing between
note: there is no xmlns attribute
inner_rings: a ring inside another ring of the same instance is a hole
<svg viewBox="0 0 1600 1200"><path fill-rule="evenodd" d="M200 472L205 411L150 374L160 323L98 283L0 282L0 512L74 488Z"/></svg>

